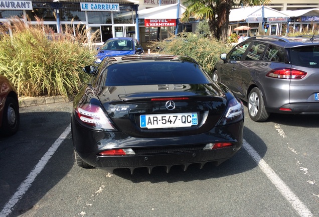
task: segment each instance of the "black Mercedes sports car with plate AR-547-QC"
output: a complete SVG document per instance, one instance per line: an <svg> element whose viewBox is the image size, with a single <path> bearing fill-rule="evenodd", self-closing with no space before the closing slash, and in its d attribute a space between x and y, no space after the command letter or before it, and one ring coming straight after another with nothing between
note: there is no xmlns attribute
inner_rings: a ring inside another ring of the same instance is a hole
<svg viewBox="0 0 319 217"><path fill-rule="evenodd" d="M190 57L128 55L86 66L73 101L78 166L117 168L215 162L242 146L243 104Z"/></svg>

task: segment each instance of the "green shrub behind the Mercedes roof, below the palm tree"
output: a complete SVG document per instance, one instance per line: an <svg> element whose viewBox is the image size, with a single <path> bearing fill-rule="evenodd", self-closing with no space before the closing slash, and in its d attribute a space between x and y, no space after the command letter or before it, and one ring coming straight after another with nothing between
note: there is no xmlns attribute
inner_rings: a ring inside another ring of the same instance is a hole
<svg viewBox="0 0 319 217"><path fill-rule="evenodd" d="M165 41L153 42L153 48L160 47L161 54L185 55L195 59L209 74L221 53L227 53L231 47L216 39L201 37L193 33L181 33Z"/></svg>

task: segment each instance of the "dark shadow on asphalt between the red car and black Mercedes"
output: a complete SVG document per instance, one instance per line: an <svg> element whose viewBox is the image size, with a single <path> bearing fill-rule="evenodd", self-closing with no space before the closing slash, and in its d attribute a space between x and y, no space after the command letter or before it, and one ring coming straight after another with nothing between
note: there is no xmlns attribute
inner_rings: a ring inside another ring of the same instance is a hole
<svg viewBox="0 0 319 217"><path fill-rule="evenodd" d="M36 109L42 110L41 106L34 108ZM74 166L71 134L54 153L50 153L53 155L48 163L44 163L43 156L70 125L70 113L61 112L59 107L52 107L51 110L20 113L18 132L11 137L0 138L1 209L16 192L21 193L23 189L30 187L22 196L23 199L15 205L10 216L19 216L32 209ZM44 168L40 170L42 166ZM34 180L29 183L32 179ZM29 181L25 182L26 180Z"/></svg>

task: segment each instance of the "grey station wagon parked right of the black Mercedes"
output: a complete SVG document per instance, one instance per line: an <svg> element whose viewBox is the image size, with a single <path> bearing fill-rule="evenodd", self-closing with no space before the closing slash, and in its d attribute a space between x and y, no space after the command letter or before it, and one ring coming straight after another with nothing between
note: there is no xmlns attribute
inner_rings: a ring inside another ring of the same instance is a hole
<svg viewBox="0 0 319 217"><path fill-rule="evenodd" d="M258 36L221 54L213 80L247 102L253 121L271 113L319 114L319 41Z"/></svg>

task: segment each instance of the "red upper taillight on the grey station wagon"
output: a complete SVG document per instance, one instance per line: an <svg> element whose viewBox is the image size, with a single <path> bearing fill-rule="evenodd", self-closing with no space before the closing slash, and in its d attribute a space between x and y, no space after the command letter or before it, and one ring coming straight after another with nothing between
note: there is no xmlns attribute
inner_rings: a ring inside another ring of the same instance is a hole
<svg viewBox="0 0 319 217"><path fill-rule="evenodd" d="M301 79L306 76L307 73L297 69L291 68L277 68L267 73L267 77L282 78L282 79Z"/></svg>

